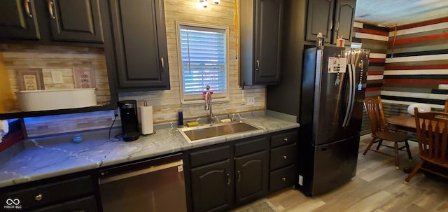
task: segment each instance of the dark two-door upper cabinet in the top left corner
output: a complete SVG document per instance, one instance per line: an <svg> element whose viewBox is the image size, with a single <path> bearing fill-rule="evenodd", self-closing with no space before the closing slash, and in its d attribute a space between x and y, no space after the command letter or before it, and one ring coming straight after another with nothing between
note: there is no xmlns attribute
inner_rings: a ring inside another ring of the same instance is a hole
<svg viewBox="0 0 448 212"><path fill-rule="evenodd" d="M1 1L0 38L104 43L100 14L99 0Z"/></svg>

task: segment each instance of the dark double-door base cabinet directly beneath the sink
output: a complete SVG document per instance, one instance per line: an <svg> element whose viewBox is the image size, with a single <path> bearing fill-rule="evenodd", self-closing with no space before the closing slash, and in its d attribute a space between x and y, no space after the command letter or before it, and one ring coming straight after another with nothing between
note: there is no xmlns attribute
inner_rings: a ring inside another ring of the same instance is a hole
<svg viewBox="0 0 448 212"><path fill-rule="evenodd" d="M267 195L269 135L207 146L187 155L193 211L229 211Z"/></svg>

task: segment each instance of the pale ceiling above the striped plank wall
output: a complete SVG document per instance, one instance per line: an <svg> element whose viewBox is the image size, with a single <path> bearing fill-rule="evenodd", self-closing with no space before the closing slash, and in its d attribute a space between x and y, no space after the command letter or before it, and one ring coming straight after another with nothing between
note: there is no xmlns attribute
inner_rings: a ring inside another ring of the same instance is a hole
<svg viewBox="0 0 448 212"><path fill-rule="evenodd" d="M355 20L395 27L448 17L448 0L357 0Z"/></svg>

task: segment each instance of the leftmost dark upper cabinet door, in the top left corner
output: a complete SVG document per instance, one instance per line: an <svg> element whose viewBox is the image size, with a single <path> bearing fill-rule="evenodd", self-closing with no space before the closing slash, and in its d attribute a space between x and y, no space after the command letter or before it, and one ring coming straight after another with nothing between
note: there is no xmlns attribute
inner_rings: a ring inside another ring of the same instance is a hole
<svg viewBox="0 0 448 212"><path fill-rule="evenodd" d="M34 0L0 1L0 38L41 38Z"/></svg>

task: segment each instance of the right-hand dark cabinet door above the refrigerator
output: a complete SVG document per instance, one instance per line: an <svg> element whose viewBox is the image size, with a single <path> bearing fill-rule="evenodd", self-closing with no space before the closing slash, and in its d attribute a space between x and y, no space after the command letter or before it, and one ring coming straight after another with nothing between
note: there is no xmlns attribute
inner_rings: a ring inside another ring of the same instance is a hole
<svg viewBox="0 0 448 212"><path fill-rule="evenodd" d="M351 43L353 31L353 19L355 18L356 0L337 0L335 10L335 29L332 40L336 43L338 36L342 36L345 45Z"/></svg>

